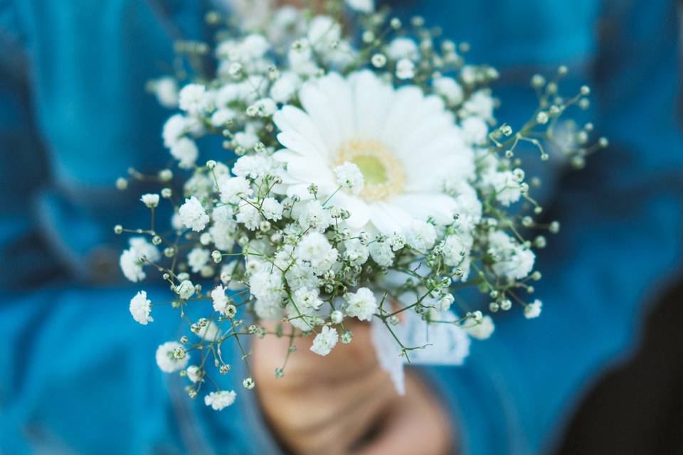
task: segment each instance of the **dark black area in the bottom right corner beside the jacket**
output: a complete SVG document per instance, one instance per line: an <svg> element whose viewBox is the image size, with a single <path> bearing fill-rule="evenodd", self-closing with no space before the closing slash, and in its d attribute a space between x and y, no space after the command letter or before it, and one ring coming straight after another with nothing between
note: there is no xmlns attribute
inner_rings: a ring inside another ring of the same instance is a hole
<svg viewBox="0 0 683 455"><path fill-rule="evenodd" d="M647 317L634 358L588 394L557 454L683 454L683 281Z"/></svg>

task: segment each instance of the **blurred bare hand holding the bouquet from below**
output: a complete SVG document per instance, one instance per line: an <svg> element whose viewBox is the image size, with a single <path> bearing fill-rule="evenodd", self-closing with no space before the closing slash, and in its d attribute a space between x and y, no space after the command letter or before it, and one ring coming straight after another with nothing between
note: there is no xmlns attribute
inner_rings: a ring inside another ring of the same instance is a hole
<svg viewBox="0 0 683 455"><path fill-rule="evenodd" d="M450 453L450 422L418 375L406 371L406 395L379 366L370 326L350 327L354 339L322 357L297 338L284 378L289 338L267 336L253 346L251 367L261 408L282 444L296 454Z"/></svg>

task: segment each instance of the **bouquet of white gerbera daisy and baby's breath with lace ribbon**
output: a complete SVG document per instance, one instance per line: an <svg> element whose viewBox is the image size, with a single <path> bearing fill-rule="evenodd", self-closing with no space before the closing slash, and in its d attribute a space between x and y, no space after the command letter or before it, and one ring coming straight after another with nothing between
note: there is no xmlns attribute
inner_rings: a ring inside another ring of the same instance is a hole
<svg viewBox="0 0 683 455"><path fill-rule="evenodd" d="M356 319L371 324L402 393L404 364L460 364L497 312L539 316L534 250L546 245L539 230L559 224L537 220L539 181L523 159L554 154L580 168L606 146L589 144L590 123L563 118L588 107L588 87L564 97L565 67L534 75L538 107L515 131L494 118L497 71L466 63L467 43L420 17L404 24L371 0L258 12L240 23L208 14L215 45L176 43L182 63L149 82L177 109L162 134L177 169L129 171L159 193L141 198L149 228L115 232L133 235L125 277L158 271L187 326L159 346L159 368L221 410L235 391L206 379L231 371L223 343L237 343L246 363L249 337L288 337L287 358L292 340L311 337L327 355L353 342ZM216 144L216 159L201 159ZM173 210L168 227L155 221L160 204ZM483 306L466 288L487 296ZM146 325L161 305L139 291L129 309Z"/></svg>

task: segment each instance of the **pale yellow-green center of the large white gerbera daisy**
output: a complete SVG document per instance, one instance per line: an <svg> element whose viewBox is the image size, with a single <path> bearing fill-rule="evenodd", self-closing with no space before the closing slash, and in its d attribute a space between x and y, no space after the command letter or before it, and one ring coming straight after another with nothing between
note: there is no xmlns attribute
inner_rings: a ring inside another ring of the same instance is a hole
<svg viewBox="0 0 683 455"><path fill-rule="evenodd" d="M403 191L403 166L379 141L356 139L337 151L335 166L355 164L365 179L361 198L385 200Z"/></svg>

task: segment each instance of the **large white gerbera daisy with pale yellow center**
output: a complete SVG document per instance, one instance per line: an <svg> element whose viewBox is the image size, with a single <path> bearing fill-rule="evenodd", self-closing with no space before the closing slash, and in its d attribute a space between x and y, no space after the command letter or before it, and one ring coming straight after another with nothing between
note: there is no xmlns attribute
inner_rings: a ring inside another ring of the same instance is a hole
<svg viewBox="0 0 683 455"><path fill-rule="evenodd" d="M314 183L319 198L332 196L329 205L349 211L349 227L386 235L415 219L452 222L459 204L443 183L467 184L474 154L440 97L412 85L396 89L365 70L310 80L299 98L303 109L287 105L274 116L286 147L274 155L286 165L283 192L309 199ZM346 163L362 173L360 191L340 176Z"/></svg>

